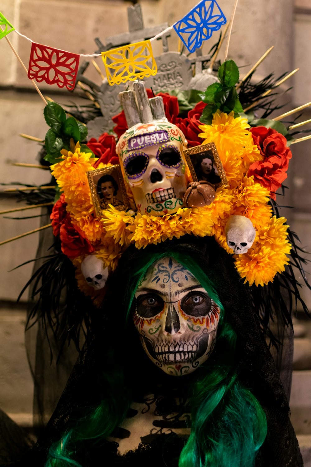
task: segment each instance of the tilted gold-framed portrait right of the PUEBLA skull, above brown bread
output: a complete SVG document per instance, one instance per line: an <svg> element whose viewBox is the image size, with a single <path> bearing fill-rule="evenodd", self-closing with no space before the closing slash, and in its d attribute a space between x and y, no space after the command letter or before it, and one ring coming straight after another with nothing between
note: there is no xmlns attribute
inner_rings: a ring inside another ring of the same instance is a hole
<svg viewBox="0 0 311 467"><path fill-rule="evenodd" d="M215 188L228 188L228 180L215 143L201 144L183 152L194 182L205 180Z"/></svg>

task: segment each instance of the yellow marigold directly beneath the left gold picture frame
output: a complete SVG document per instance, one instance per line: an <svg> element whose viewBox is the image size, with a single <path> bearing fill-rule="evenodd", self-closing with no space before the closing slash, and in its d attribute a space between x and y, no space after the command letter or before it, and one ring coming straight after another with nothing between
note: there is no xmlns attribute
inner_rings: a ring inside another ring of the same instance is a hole
<svg viewBox="0 0 311 467"><path fill-rule="evenodd" d="M127 235L128 232L126 227L134 224L132 216L128 215L125 211L118 211L112 205L109 205L110 209L102 211L104 230L113 237L113 239L120 243L121 247L125 244L128 245Z"/></svg>

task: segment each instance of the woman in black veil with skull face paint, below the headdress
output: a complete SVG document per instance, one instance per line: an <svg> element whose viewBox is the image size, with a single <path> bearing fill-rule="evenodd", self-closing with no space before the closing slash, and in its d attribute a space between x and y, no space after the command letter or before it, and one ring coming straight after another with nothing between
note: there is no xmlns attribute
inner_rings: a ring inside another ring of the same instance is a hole
<svg viewBox="0 0 311 467"><path fill-rule="evenodd" d="M48 447L54 467L303 465L247 290L214 239L130 247L108 285L38 465Z"/></svg>

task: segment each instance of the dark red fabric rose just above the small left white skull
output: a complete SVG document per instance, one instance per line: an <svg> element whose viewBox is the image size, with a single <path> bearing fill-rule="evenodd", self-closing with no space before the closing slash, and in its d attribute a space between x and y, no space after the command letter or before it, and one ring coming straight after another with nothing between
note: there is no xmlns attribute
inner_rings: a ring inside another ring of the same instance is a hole
<svg viewBox="0 0 311 467"><path fill-rule="evenodd" d="M83 238L78 227L73 226L67 213L60 228L60 239L62 241L62 252L70 259L80 255L90 255L94 248L88 240Z"/></svg>

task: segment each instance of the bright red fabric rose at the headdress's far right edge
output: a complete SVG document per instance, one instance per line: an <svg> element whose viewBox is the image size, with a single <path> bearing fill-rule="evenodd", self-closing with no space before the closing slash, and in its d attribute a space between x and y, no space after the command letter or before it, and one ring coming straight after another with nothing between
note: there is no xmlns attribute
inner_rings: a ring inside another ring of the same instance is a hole
<svg viewBox="0 0 311 467"><path fill-rule="evenodd" d="M264 157L250 165L248 176L270 190L270 198L276 199L275 192L287 177L288 162L292 157L286 138L273 128L252 127L253 141Z"/></svg>

